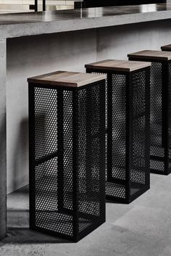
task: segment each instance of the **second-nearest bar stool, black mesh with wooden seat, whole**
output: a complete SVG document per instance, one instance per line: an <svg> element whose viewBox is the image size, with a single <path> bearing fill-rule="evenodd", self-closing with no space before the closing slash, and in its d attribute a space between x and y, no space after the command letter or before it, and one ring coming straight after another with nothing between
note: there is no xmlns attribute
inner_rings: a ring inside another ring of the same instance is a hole
<svg viewBox="0 0 171 256"><path fill-rule="evenodd" d="M106 80L106 198L130 203L149 189L148 62L107 59L86 65Z"/></svg>

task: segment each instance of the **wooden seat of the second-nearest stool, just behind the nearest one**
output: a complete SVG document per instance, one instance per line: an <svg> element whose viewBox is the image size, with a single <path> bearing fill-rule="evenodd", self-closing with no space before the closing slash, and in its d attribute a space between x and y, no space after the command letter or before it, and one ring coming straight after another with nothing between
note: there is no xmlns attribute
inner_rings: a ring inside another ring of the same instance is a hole
<svg viewBox="0 0 171 256"><path fill-rule="evenodd" d="M128 60L105 59L100 62L93 62L85 65L86 68L97 70L113 70L121 72L132 72L149 67L149 62L132 62Z"/></svg>

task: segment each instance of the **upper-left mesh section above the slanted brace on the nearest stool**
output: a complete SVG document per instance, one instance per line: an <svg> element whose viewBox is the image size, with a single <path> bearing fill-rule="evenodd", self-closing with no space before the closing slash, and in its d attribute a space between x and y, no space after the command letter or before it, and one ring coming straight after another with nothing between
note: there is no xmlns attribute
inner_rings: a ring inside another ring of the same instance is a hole
<svg viewBox="0 0 171 256"><path fill-rule="evenodd" d="M43 99L42 102L41 99ZM57 104L51 104L56 100L57 91L51 91L47 88L35 89L36 160L57 152ZM49 126L51 129L48 128Z"/></svg>

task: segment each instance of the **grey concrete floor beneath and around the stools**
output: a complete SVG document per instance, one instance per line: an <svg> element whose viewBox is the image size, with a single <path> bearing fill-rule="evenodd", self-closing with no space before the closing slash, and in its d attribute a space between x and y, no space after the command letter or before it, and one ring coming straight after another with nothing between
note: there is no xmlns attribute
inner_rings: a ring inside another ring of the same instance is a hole
<svg viewBox="0 0 171 256"><path fill-rule="evenodd" d="M107 202L107 222L77 244L30 231L28 187L7 197L1 256L170 256L171 175L151 175L151 189L130 205Z"/></svg>

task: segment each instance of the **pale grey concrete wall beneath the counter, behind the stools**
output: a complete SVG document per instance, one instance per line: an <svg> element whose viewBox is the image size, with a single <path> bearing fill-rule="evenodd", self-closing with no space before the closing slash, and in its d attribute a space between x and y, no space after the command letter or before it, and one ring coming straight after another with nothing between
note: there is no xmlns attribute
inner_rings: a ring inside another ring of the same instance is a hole
<svg viewBox="0 0 171 256"><path fill-rule="evenodd" d="M7 40L7 192L28 184L27 78L55 70L84 71L100 59L127 59L141 49L171 43L171 22Z"/></svg>

